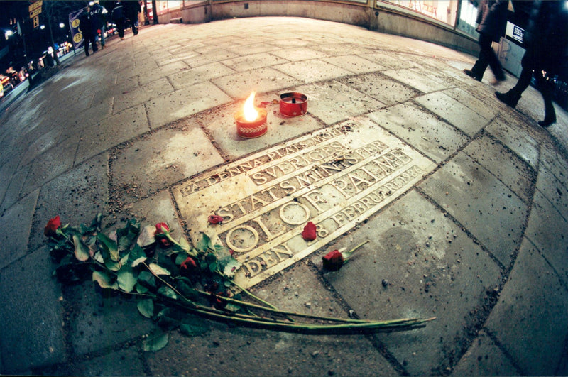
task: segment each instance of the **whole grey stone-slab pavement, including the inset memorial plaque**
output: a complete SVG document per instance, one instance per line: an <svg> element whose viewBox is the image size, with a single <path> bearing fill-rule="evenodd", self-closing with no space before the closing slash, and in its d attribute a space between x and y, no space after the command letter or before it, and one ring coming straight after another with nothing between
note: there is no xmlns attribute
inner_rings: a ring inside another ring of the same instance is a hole
<svg viewBox="0 0 568 377"><path fill-rule="evenodd" d="M540 94L508 108L493 92L516 79L472 80L474 60L341 23L241 18L141 28L66 62L0 116L1 373L566 375L568 116L540 128ZM253 89L257 104L307 94L307 114L269 103L266 135L239 138ZM136 302L52 278L47 220L97 212L208 232L281 309L437 319L337 336L204 320L144 352L154 324ZM213 212L231 220L213 229ZM324 253L366 240L322 271Z"/></svg>

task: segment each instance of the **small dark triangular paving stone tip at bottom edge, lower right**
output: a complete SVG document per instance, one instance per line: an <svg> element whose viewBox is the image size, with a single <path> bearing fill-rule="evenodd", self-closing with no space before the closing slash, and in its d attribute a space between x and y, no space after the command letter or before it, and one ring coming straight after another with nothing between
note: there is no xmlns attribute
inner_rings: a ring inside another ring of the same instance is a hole
<svg viewBox="0 0 568 377"><path fill-rule="evenodd" d="M481 331L452 376L520 376L520 373L486 332Z"/></svg>

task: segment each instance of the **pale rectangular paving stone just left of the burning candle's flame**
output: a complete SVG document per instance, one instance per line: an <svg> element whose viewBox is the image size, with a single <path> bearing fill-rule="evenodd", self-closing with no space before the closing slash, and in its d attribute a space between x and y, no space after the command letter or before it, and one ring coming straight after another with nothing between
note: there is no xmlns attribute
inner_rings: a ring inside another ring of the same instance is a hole
<svg viewBox="0 0 568 377"><path fill-rule="evenodd" d="M204 93L207 95L204 96ZM202 82L148 101L148 120L151 128L157 129L229 101L231 98L214 84Z"/></svg>

